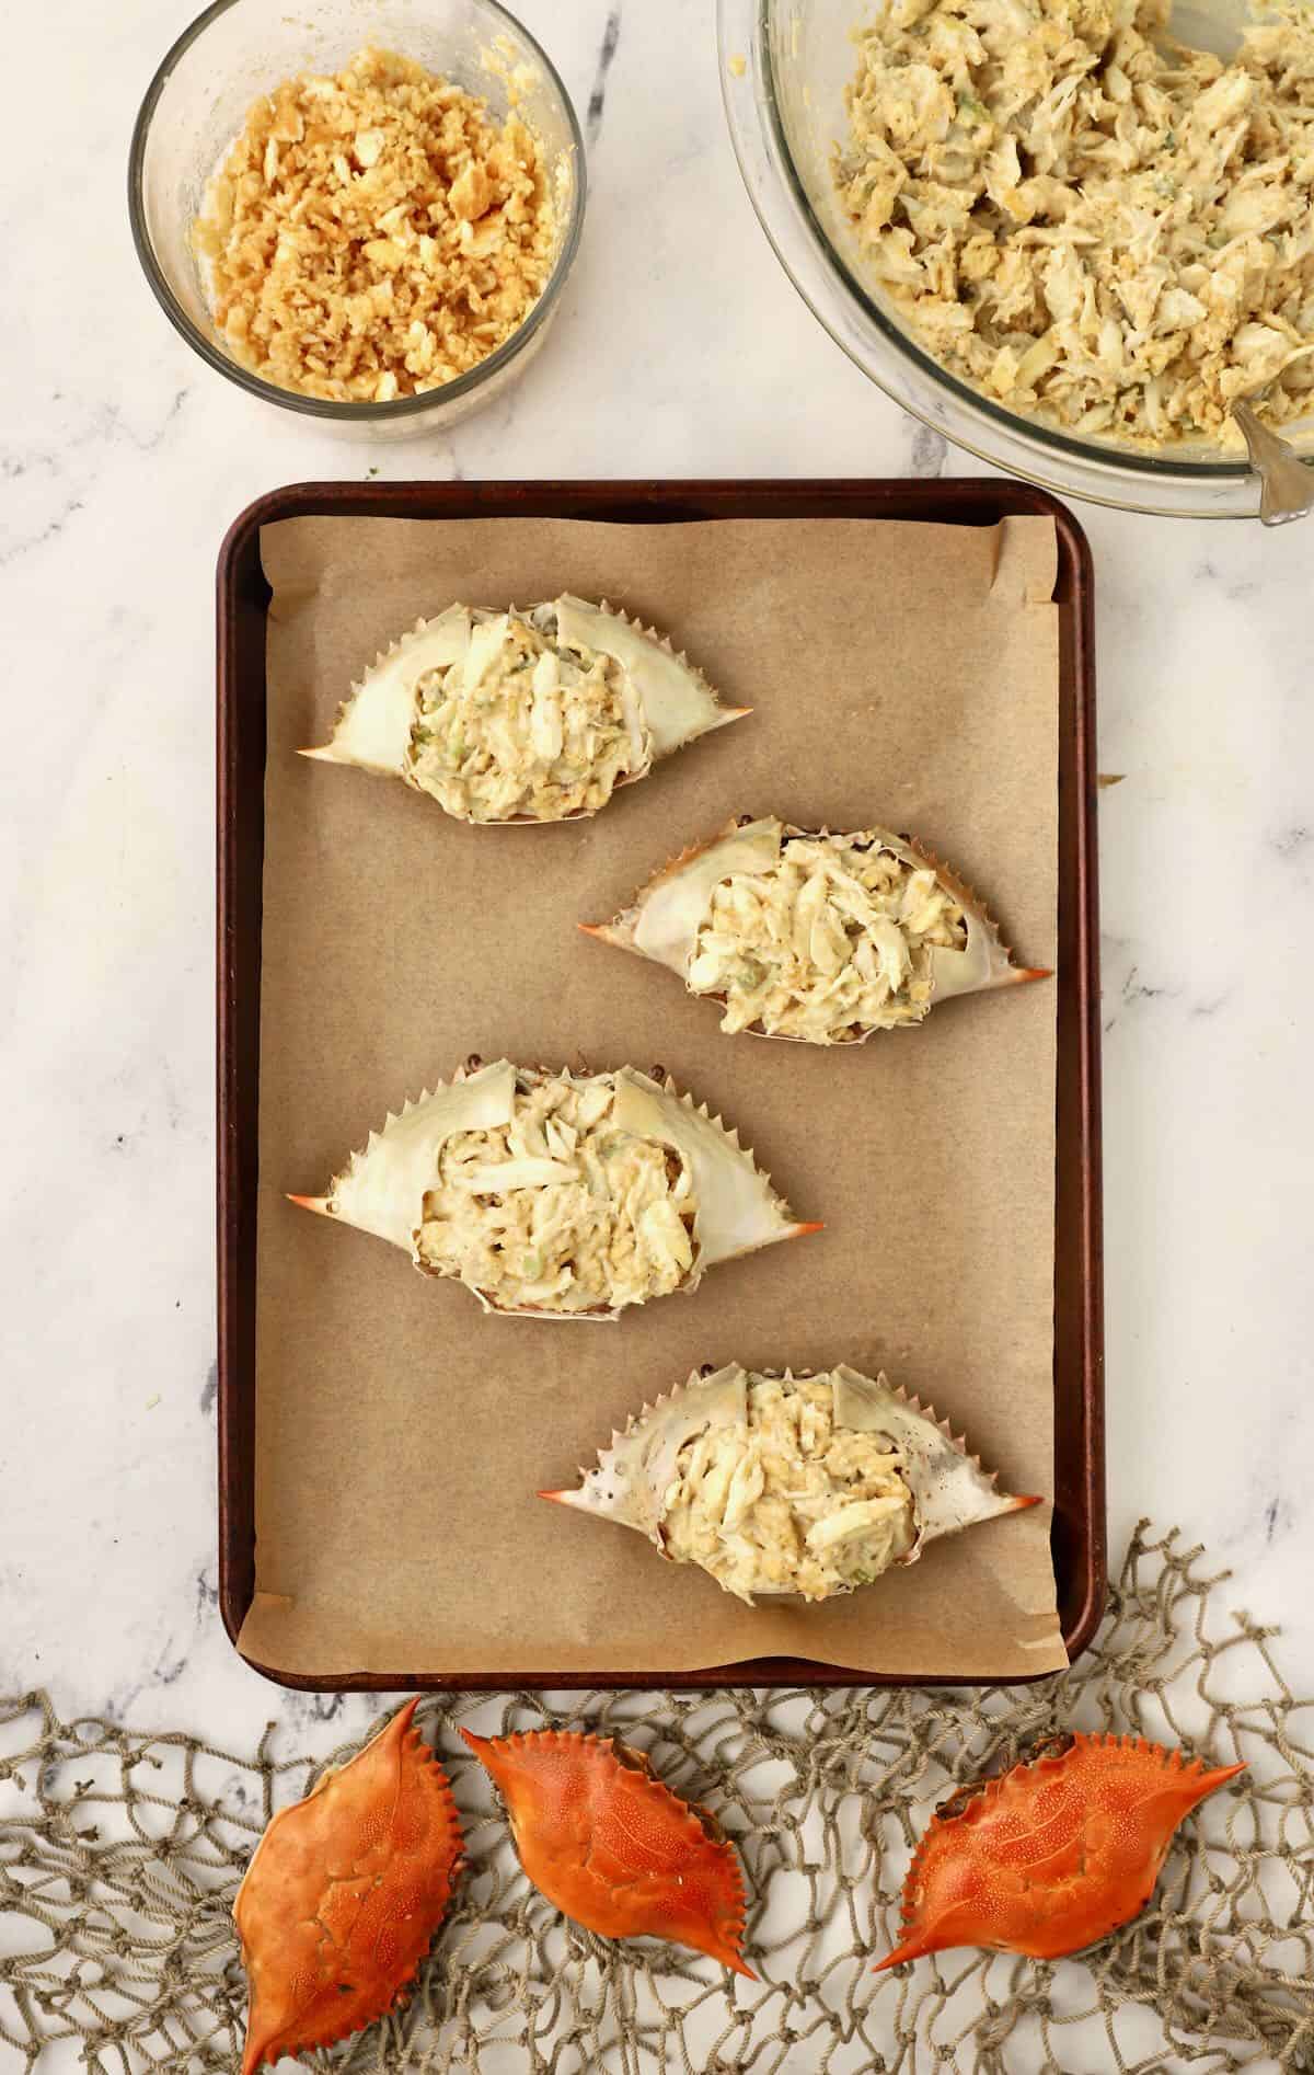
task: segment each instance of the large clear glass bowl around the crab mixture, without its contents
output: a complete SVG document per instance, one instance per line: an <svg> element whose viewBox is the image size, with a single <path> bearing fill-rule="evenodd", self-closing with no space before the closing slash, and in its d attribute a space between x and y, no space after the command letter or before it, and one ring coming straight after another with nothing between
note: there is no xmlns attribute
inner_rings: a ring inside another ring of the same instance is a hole
<svg viewBox="0 0 1314 2075"><path fill-rule="evenodd" d="M1210 15L1217 17L1210 33ZM1235 44L1229 0L1179 6L1183 39ZM939 365L910 334L856 251L831 178L858 62L852 29L870 0L717 0L721 91L740 172L785 274L831 338L906 411L947 440L1063 496L1125 510L1248 519L1258 477L1204 444L1163 459L1076 438L1005 411ZM1314 465L1314 423L1283 427Z"/></svg>

